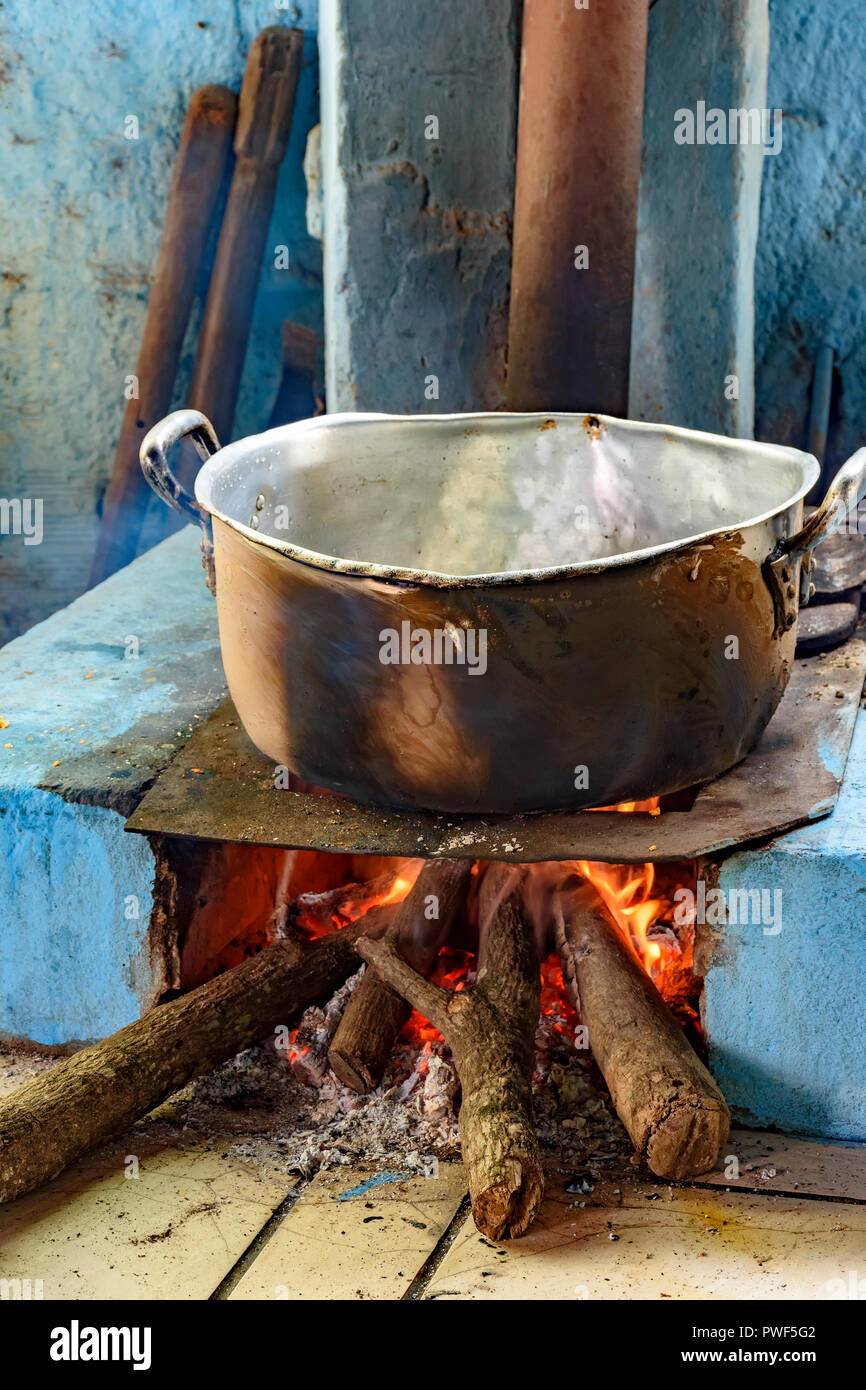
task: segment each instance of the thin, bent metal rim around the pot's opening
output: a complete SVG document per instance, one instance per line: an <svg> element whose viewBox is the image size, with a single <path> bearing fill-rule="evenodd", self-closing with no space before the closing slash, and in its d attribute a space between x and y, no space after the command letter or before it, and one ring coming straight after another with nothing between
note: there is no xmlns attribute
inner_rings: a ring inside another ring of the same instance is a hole
<svg viewBox="0 0 866 1390"><path fill-rule="evenodd" d="M749 517L744 521L728 523L726 525L713 527L710 531L701 531L695 535L677 537L674 541L664 541L662 545L645 546L639 550L623 550L619 555L603 556L598 560L581 560L574 564L555 564L545 569L537 570L500 570L492 574L446 574L439 570L416 570L405 566L389 566L374 560L345 560L339 556L324 555L320 550L309 550L303 545L293 545L291 541L279 541L277 537L264 535L261 531L253 530L236 517L228 516L220 507L214 506L210 499L211 484L217 473L222 467L229 466L238 460L243 453L261 449L270 443L277 442L277 439L286 439L293 435L302 435L307 432L314 432L321 430L322 425L328 428L346 428L360 421L374 423L374 421L393 421L399 424L420 424L423 428L427 424L448 424L448 423L464 423L477 420L496 420L499 423L507 420L577 420L584 421L599 421L601 424L613 425L627 425L630 431L642 434L662 434L669 438L681 439L685 443L689 441L701 442L702 445L714 443L721 445L726 449L735 449L742 453L751 455L776 455L777 457L787 457L795 460L801 464L803 471L803 482L791 496L785 498L776 507L769 512L763 512L759 516ZM430 585L432 588L441 589L463 589L463 588L480 588L480 587L498 587L506 588L509 585L517 587L523 584L544 582L548 580L570 580L577 578L581 574L598 574L603 570L624 569L630 564L638 564L649 559L660 559L662 556L671 556L680 550L689 549L694 545L701 545L702 542L713 541L716 537L731 535L737 531L745 531L749 527L760 525L765 521L771 520L780 513L785 512L788 507L801 502L802 498L812 489L820 477L820 464L817 459L805 453L802 449L794 449L788 445L766 443L758 439L738 439L728 435L709 434L703 430L687 430L683 425L666 425L651 420L626 420L619 416L603 416L587 411L564 411L564 410L532 410L532 411L505 411L505 410L473 410L473 411L455 411L452 414L416 414L416 416L398 416L386 414L382 411L341 411L335 414L314 416L310 420L296 420L288 425L277 425L274 430L265 430L257 435L247 435L243 439L236 439L232 443L224 445L217 453L202 466L196 475L195 493L196 500L204 510L213 516L218 517L220 521L238 531L250 543L256 546L264 546L268 550L274 550L286 559L296 560L299 564L306 564L311 569L327 570L331 574L345 574L354 578L366 580L381 580L400 584L414 584L414 585ZM769 552L767 552L769 553Z"/></svg>

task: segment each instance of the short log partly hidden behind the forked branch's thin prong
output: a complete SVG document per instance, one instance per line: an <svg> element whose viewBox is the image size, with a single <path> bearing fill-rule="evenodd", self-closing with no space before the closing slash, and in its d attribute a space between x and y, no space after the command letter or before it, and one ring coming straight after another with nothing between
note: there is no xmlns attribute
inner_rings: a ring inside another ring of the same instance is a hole
<svg viewBox="0 0 866 1390"><path fill-rule="evenodd" d="M471 865L459 859L438 859L424 865L414 887L398 906L391 929L403 959L427 976L448 941L464 898ZM435 899L436 916L425 915ZM361 1095L382 1080L398 1033L411 1013L411 1005L395 994L375 973L367 970L353 992L328 1052L331 1070Z"/></svg>

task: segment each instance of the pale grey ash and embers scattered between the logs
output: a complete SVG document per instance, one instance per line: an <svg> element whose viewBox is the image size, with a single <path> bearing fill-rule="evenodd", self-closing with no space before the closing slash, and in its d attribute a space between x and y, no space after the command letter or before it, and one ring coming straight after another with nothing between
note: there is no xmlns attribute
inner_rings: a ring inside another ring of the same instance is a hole
<svg viewBox="0 0 866 1390"><path fill-rule="evenodd" d="M297 1041L324 1044L361 972L324 1009L307 1009ZM578 1052L556 1015L539 1019L532 1076L535 1126L548 1159L605 1163L631 1152L589 1054ZM327 1058L327 1048L325 1048ZM302 1068L303 1072L303 1068ZM234 1151L268 1168L311 1176L359 1161L428 1172L460 1156L459 1080L442 1038L418 1047L400 1040L381 1086L357 1095L324 1065L304 1084L285 1052L263 1044L242 1052L177 1098L185 1131L231 1133Z"/></svg>

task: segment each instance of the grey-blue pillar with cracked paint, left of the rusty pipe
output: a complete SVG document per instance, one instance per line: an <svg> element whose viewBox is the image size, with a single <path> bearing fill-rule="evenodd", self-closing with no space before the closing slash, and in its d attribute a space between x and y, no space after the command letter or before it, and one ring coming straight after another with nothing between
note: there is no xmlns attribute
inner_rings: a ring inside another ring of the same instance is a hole
<svg viewBox="0 0 866 1390"><path fill-rule="evenodd" d="M503 403L517 6L467 13L321 3L331 410Z"/></svg>

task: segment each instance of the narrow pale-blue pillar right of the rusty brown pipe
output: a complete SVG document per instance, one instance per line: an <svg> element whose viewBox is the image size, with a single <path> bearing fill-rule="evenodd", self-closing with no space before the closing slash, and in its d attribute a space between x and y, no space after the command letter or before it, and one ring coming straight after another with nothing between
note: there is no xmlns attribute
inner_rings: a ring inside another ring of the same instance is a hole
<svg viewBox="0 0 866 1390"><path fill-rule="evenodd" d="M751 438L763 153L678 145L698 101L762 108L767 0L659 0L649 14L628 413Z"/></svg>

